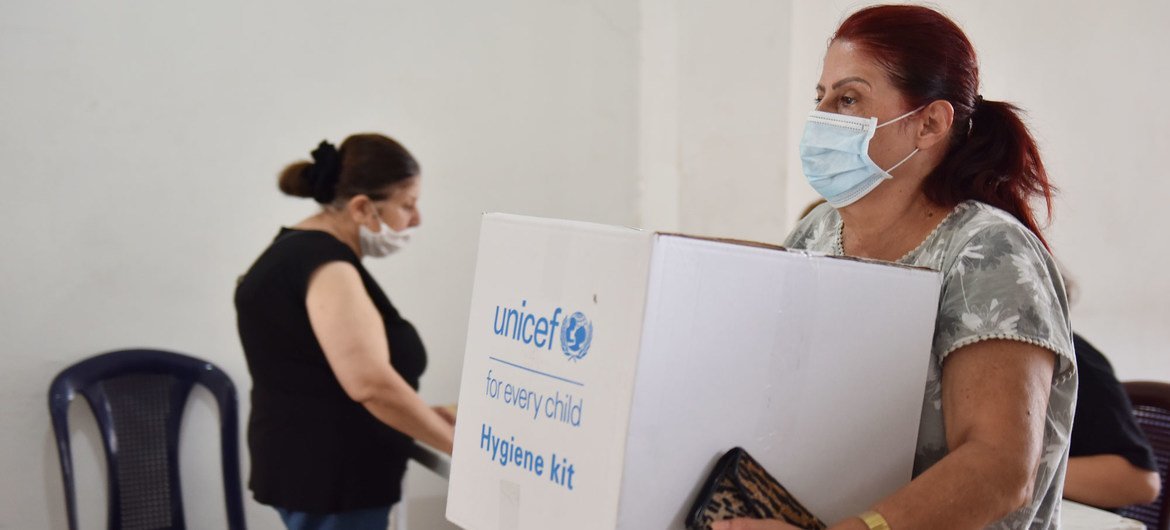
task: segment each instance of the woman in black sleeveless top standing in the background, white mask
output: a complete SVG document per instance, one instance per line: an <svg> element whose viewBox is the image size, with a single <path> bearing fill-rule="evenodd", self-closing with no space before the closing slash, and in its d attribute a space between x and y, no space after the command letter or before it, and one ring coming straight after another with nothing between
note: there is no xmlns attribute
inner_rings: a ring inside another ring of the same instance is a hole
<svg viewBox="0 0 1170 530"><path fill-rule="evenodd" d="M384 530L411 439L452 450L454 418L417 390L426 351L362 266L410 241L419 166L397 142L355 135L288 166L287 194L321 212L273 243L235 291L252 373L249 488L289 529Z"/></svg>

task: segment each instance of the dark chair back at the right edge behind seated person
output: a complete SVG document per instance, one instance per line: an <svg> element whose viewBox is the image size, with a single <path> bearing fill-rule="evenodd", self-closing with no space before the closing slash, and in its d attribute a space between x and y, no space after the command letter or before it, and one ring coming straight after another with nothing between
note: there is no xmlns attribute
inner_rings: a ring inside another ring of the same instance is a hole
<svg viewBox="0 0 1170 530"><path fill-rule="evenodd" d="M1119 512L1145 523L1150 530L1170 530L1170 383L1126 381L1134 402L1134 419L1154 448L1162 477L1162 493L1150 504L1126 507Z"/></svg>

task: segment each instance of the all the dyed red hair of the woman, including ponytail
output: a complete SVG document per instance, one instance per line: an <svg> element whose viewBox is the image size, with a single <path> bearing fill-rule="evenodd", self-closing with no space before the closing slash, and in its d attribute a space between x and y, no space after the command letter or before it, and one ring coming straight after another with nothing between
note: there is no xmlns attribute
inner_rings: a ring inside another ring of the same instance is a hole
<svg viewBox="0 0 1170 530"><path fill-rule="evenodd" d="M1040 150L1019 108L978 95L975 48L955 22L927 7L873 6L849 15L832 40L873 57L911 108L936 99L955 108L947 156L923 181L927 198L943 206L975 199L1004 209L1047 247L1030 206L1042 198L1052 219L1054 188Z"/></svg>

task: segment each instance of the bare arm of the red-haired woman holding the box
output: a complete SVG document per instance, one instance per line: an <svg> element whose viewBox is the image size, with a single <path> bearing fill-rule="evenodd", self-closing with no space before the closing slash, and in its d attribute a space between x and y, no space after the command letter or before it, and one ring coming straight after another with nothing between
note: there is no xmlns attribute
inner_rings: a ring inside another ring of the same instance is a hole
<svg viewBox="0 0 1170 530"><path fill-rule="evenodd" d="M897 530L982 529L1031 501L1044 452L1055 355L1016 340L984 340L943 365L942 401L951 450L873 509ZM866 433L856 433L863 438ZM844 474L841 480L847 480ZM720 530L785 530L736 519ZM848 518L832 530L867 530Z"/></svg>

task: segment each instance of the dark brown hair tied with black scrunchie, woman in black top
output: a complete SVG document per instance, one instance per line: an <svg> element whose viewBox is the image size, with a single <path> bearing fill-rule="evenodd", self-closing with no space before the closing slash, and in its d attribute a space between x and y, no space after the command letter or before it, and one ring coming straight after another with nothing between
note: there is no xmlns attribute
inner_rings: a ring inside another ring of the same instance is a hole
<svg viewBox="0 0 1170 530"><path fill-rule="evenodd" d="M364 133L350 136L340 149L322 142L312 161L289 164L277 185L285 194L328 205L356 195L385 199L387 188L418 174L419 163L406 147L383 135Z"/></svg>

